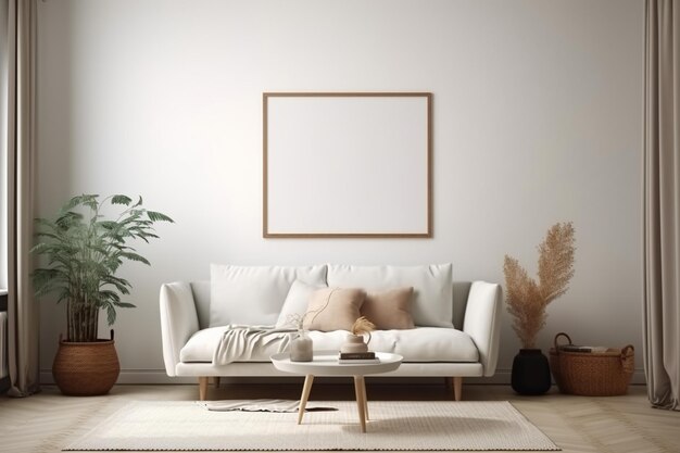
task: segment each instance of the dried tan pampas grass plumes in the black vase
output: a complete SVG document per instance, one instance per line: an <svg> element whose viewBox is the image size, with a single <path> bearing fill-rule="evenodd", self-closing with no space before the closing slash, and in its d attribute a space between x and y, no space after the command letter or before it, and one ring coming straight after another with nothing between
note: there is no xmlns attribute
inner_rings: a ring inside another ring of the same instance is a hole
<svg viewBox="0 0 680 453"><path fill-rule="evenodd" d="M503 273L507 311L514 316L513 329L524 348L536 348L536 338L545 326L545 307L567 292L574 276L576 251L571 222L553 225L539 246L539 281L529 277L519 262L505 255Z"/></svg>

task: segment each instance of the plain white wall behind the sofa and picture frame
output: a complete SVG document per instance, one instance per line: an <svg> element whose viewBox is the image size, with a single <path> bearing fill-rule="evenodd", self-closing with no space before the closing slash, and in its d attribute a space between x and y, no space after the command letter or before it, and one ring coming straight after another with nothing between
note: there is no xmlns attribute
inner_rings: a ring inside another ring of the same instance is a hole
<svg viewBox="0 0 680 453"><path fill-rule="evenodd" d="M140 193L177 222L140 247L152 267L124 269L123 380L162 378L159 287L211 262L453 262L502 282L504 254L536 272L559 221L576 276L539 345L564 330L641 356L642 42L640 0L39 2L39 211ZM263 239L263 91L431 91L433 239ZM49 368L63 315L42 307Z"/></svg>

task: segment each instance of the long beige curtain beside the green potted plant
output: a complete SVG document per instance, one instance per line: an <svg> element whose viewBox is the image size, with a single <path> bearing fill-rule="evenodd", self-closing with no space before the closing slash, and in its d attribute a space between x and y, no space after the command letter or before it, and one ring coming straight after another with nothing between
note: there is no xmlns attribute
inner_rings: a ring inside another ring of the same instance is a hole
<svg viewBox="0 0 680 453"><path fill-rule="evenodd" d="M8 178L8 317L10 395L39 389L38 307L29 280L33 242L36 0L0 0L2 126ZM3 190L4 191L4 190Z"/></svg>

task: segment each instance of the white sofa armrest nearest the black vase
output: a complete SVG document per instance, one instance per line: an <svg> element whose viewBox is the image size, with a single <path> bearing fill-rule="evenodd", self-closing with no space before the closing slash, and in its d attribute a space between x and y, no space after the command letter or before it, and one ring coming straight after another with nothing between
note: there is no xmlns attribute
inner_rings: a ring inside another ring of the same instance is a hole
<svg viewBox="0 0 680 453"><path fill-rule="evenodd" d="M463 331L479 350L484 376L493 376L499 361L502 294L500 285L474 281L467 297Z"/></svg>

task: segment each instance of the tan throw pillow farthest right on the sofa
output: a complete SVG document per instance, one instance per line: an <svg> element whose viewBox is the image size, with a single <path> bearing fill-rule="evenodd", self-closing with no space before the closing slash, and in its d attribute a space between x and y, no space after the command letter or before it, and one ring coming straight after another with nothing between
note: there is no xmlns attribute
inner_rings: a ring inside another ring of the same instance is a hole
<svg viewBox="0 0 680 453"><path fill-rule="evenodd" d="M379 330L413 329L411 301L413 287L395 288L381 292L369 292L361 309L362 316Z"/></svg>

